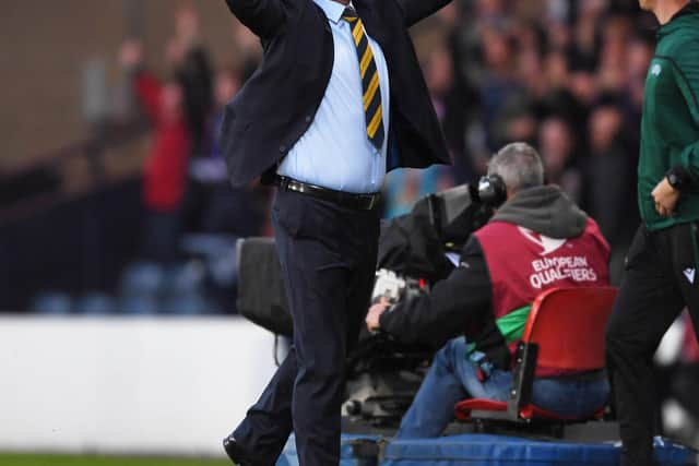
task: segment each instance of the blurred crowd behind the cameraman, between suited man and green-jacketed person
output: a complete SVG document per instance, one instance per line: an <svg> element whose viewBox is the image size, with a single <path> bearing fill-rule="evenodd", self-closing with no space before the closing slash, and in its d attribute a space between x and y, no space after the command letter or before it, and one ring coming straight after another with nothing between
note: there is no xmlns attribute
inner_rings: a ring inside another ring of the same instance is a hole
<svg viewBox="0 0 699 466"><path fill-rule="evenodd" d="M654 28L636 1L473 0L437 17L425 75L454 159L474 179L499 146L536 146L549 182L615 250L638 224L636 164Z"/></svg>

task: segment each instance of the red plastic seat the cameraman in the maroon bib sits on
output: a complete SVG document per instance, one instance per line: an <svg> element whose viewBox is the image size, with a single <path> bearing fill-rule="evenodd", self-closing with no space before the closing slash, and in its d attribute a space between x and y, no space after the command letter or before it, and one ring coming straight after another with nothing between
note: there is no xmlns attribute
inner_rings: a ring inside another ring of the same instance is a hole
<svg viewBox="0 0 699 466"><path fill-rule="evenodd" d="M616 294L613 287L580 287L540 295L517 349L510 398L464 399L454 408L457 419L568 423L602 418L605 406L590 418L577 419L542 409L530 399L537 374L604 370L604 328Z"/></svg>

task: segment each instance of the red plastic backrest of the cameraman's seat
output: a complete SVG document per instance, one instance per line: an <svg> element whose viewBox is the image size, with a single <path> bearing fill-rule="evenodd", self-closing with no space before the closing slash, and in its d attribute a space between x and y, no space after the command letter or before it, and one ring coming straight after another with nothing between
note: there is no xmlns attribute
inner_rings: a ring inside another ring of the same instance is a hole
<svg viewBox="0 0 699 466"><path fill-rule="evenodd" d="M537 368L561 372L603 369L604 330L614 287L555 288L541 294L522 340L538 345Z"/></svg>

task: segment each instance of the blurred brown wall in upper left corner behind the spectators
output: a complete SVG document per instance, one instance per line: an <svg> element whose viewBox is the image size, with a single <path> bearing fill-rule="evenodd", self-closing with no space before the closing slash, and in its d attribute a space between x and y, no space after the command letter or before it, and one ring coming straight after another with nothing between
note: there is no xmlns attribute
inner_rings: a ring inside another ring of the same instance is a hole
<svg viewBox="0 0 699 466"><path fill-rule="evenodd" d="M0 172L84 138L81 80L103 59L119 81L117 50L140 23L151 63L163 71L175 0L4 0L0 7ZM235 60L233 19L223 1L192 0L215 63ZM134 17L139 21L135 21Z"/></svg>

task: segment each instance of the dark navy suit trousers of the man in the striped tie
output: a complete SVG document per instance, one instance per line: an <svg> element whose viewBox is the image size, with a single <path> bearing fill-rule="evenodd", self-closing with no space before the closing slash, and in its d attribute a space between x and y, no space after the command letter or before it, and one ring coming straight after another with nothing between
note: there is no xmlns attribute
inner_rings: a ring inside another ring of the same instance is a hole
<svg viewBox="0 0 699 466"><path fill-rule="evenodd" d="M294 345L234 437L272 465L293 430L301 465L336 465L345 358L369 307L379 216L282 190L272 216Z"/></svg>

